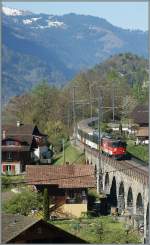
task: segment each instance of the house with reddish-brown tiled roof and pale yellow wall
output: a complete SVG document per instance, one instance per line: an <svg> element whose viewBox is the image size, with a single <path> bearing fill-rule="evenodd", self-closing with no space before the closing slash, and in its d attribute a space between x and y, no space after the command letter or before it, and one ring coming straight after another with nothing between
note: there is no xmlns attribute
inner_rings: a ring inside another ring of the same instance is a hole
<svg viewBox="0 0 150 245"><path fill-rule="evenodd" d="M61 217L80 217L87 212L88 188L96 187L91 165L27 165L26 181L38 191L48 188L50 213Z"/></svg>

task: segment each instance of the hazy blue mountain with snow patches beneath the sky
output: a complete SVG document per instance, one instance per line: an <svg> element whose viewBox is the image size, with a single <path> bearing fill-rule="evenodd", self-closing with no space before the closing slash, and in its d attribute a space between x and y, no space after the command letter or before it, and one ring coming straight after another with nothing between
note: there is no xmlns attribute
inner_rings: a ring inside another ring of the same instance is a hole
<svg viewBox="0 0 150 245"><path fill-rule="evenodd" d="M2 99L42 80L63 86L81 70L118 53L148 57L148 32L125 30L102 18L2 9Z"/></svg>

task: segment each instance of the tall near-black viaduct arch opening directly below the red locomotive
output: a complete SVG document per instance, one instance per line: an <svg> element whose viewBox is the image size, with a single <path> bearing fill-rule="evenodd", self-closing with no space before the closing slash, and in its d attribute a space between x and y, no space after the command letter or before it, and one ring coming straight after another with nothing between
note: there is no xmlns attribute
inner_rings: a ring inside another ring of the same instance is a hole
<svg viewBox="0 0 150 245"><path fill-rule="evenodd" d="M115 176L112 179L112 184L110 188L109 203L111 207L117 207L117 185Z"/></svg>

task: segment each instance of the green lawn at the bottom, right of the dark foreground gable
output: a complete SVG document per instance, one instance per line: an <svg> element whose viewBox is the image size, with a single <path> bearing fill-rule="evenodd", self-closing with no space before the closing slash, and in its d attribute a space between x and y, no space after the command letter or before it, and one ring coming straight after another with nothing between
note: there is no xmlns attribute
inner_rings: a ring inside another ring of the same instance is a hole
<svg viewBox="0 0 150 245"><path fill-rule="evenodd" d="M125 224L110 216L99 218L53 221L54 225L86 240L88 243L141 243L140 236L133 229L127 234Z"/></svg>

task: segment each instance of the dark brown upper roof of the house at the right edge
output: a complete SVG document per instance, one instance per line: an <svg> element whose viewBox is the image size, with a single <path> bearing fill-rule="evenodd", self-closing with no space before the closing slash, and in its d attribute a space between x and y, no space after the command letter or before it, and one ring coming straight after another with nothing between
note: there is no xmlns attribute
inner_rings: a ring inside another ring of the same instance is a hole
<svg viewBox="0 0 150 245"><path fill-rule="evenodd" d="M148 112L149 112L148 105L137 105L131 113L131 118L137 124L148 124L149 123Z"/></svg>

